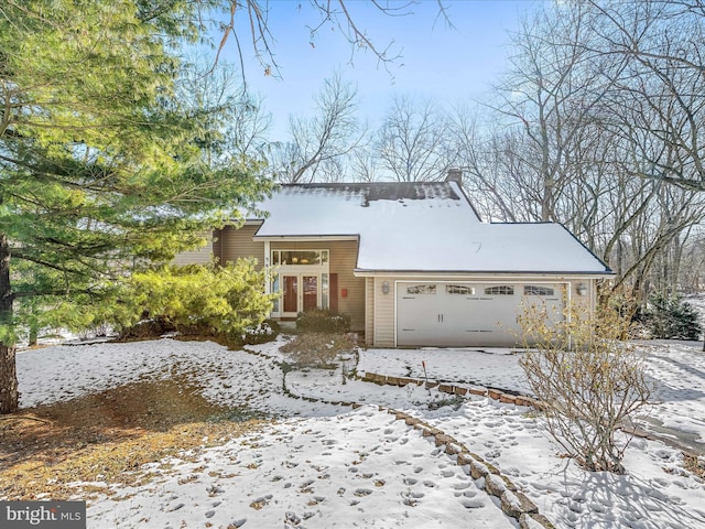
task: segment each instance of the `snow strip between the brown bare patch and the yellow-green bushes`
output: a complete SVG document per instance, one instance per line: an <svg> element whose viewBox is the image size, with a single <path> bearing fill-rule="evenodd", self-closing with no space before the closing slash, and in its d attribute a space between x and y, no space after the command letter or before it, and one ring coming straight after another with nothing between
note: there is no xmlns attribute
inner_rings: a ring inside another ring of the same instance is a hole
<svg viewBox="0 0 705 529"><path fill-rule="evenodd" d="M36 370L23 369L36 366ZM303 403L282 391L282 371L272 360L228 350L212 342L155 339L126 344L64 345L18 354L20 406L68 400L138 380L188 374L216 404L248 406L275 415L330 415L339 408Z"/></svg>

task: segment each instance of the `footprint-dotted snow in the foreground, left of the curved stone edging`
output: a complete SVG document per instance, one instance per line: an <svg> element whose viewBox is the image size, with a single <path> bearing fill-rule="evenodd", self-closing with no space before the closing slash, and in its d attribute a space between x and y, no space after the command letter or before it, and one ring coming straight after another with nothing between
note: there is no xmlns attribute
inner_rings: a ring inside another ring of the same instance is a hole
<svg viewBox="0 0 705 529"><path fill-rule="evenodd" d="M513 527L441 449L377 408L288 420L193 462L167 463L175 466L156 483L91 506L89 520L116 528L446 528L471 516L478 527Z"/></svg>

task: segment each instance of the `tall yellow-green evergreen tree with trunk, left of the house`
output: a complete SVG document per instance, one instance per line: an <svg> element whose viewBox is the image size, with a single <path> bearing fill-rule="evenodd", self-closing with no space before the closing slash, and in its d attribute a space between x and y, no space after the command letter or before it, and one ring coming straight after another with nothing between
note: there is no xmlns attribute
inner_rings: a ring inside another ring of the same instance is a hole
<svg viewBox="0 0 705 529"><path fill-rule="evenodd" d="M268 191L247 160L207 163L215 120L173 97L207 3L0 6L0 413L18 408L18 302L100 300Z"/></svg>

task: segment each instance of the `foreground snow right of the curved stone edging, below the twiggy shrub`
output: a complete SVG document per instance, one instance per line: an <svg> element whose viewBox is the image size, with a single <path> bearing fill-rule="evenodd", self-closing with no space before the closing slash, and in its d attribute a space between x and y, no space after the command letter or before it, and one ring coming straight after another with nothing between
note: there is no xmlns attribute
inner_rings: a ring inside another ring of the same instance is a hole
<svg viewBox="0 0 705 529"><path fill-rule="evenodd" d="M633 440L626 476L590 474L561 458L541 421L521 408L471 401L424 419L497 466L556 527L705 527L703 481L682 475L680 452L660 442Z"/></svg>

